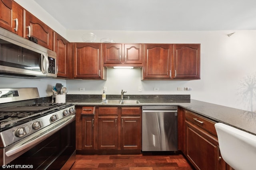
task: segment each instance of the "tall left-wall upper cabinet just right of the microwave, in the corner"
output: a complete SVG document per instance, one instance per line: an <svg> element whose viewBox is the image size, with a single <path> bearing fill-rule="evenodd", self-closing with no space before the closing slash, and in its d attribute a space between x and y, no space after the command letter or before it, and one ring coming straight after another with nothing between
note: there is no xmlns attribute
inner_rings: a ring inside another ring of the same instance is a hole
<svg viewBox="0 0 256 170"><path fill-rule="evenodd" d="M57 54L58 77L73 78L72 45L54 32L54 49Z"/></svg>

